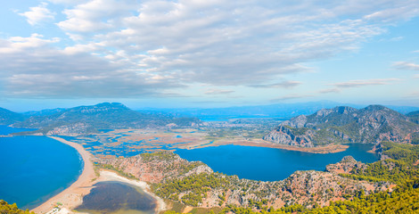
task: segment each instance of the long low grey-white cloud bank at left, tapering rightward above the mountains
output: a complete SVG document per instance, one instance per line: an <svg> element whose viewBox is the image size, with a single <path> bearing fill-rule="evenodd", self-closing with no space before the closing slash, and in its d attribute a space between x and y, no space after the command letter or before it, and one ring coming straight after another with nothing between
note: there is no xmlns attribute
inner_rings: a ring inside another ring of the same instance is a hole
<svg viewBox="0 0 419 214"><path fill-rule="evenodd" d="M162 95L180 85L170 78L125 70L83 50L100 47L53 48L57 39L41 35L0 39L0 85L9 97L79 98ZM24 59L24 60L22 60Z"/></svg>

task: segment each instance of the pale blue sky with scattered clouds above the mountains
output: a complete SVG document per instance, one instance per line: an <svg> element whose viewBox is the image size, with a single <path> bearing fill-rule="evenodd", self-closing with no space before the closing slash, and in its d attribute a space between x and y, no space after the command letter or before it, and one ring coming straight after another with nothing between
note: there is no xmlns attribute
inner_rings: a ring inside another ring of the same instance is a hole
<svg viewBox="0 0 419 214"><path fill-rule="evenodd" d="M419 1L3 1L0 107L419 106Z"/></svg>

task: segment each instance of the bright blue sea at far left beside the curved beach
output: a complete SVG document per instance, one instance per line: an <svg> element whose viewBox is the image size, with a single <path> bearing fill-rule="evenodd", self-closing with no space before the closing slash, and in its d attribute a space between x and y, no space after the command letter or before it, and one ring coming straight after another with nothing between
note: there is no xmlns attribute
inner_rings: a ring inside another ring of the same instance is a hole
<svg viewBox="0 0 419 214"><path fill-rule="evenodd" d="M28 129L0 126L0 135ZM46 136L0 137L0 199L32 209L74 183L83 170L78 152Z"/></svg>

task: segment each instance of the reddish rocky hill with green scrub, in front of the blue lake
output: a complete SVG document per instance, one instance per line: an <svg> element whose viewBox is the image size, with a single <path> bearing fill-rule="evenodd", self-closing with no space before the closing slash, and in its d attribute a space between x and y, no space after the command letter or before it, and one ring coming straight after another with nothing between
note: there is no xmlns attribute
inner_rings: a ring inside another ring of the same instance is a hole
<svg viewBox="0 0 419 214"><path fill-rule="evenodd" d="M338 169L350 170L362 164L351 157L329 167L329 171L296 171L290 177L274 182L226 176L213 172L202 162L185 161L173 152L143 153L130 158L99 159L98 162L107 169L116 169L152 183L153 192L162 198L201 208L264 204L276 209L296 203L308 207L325 206L359 191L366 194L385 191L390 184L340 177Z"/></svg>

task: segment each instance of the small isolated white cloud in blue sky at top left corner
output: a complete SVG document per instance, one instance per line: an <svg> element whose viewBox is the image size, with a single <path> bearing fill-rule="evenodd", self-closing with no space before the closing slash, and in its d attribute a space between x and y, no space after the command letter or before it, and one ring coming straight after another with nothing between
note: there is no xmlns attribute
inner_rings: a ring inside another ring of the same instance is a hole
<svg viewBox="0 0 419 214"><path fill-rule="evenodd" d="M36 7L30 7L29 12L21 12L19 14L26 17L30 25L37 25L48 20L53 21L56 13L48 10L48 8L46 8L47 5L47 3L41 3Z"/></svg>

